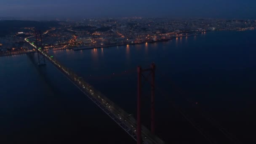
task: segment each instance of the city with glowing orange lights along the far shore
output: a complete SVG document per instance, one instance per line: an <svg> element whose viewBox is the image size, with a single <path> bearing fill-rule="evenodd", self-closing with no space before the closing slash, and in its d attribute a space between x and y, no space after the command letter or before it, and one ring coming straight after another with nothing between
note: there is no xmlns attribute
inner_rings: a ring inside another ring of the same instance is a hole
<svg viewBox="0 0 256 144"><path fill-rule="evenodd" d="M2 21L3 22L3 21ZM56 27L44 32L45 48L88 49L115 45L154 43L176 37L188 37L209 31L254 30L254 20L223 19L160 19L160 18L109 18L83 19L81 21L58 21ZM20 27L0 39L0 53L18 54L31 50L24 43L25 37L34 35L35 27ZM35 37L31 38L35 41Z"/></svg>

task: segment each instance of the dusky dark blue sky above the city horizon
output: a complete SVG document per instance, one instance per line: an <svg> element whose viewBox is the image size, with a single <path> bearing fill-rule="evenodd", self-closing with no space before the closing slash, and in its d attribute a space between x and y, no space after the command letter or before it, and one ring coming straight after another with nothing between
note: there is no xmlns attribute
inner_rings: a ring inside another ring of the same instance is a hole
<svg viewBox="0 0 256 144"><path fill-rule="evenodd" d="M256 19L256 0L0 0L0 16Z"/></svg>

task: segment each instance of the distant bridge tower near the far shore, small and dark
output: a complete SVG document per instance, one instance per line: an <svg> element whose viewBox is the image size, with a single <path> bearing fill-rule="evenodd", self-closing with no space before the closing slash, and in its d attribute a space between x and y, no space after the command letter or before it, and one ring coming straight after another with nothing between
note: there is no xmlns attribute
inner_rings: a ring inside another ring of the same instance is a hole
<svg viewBox="0 0 256 144"><path fill-rule="evenodd" d="M38 42L38 38L40 38L40 43ZM38 58L38 65L45 65L45 57L39 52L38 49L44 50L43 48L43 40L42 40L42 34L41 31L35 30L35 43L37 46L37 58Z"/></svg>

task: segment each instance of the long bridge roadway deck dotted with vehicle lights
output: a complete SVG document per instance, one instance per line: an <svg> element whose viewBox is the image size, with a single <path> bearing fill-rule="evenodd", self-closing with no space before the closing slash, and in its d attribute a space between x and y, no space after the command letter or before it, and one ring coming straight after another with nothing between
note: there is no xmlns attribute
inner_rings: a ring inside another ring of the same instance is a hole
<svg viewBox="0 0 256 144"><path fill-rule="evenodd" d="M29 43L30 45L35 45ZM118 107L106 96L97 91L93 86L86 83L81 77L77 76L75 72L67 69L61 65L56 59L53 59L45 51L38 49L38 51L45 56L46 59L60 70L73 84L77 86L89 99L91 99L97 106L99 106L109 117L111 117L121 128L123 128L134 140L136 140L136 120L128 115L123 109ZM146 127L142 126L142 141L144 144L164 144L164 142L157 136L151 133Z"/></svg>

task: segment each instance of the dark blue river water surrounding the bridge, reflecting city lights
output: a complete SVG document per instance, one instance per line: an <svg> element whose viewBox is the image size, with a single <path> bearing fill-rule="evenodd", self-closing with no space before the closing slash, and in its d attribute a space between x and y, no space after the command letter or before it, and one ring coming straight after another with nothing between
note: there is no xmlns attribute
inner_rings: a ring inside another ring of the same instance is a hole
<svg viewBox="0 0 256 144"><path fill-rule="evenodd" d="M209 32L49 53L134 116L136 67L154 61L160 138L169 144L247 144L256 142L255 35ZM52 64L37 67L35 56L0 57L1 144L135 143ZM149 127L147 82L142 103L142 121Z"/></svg>

